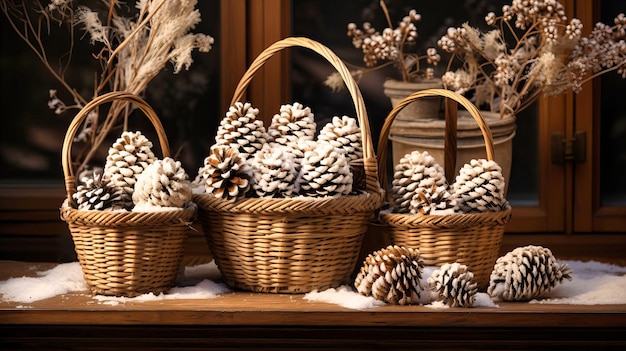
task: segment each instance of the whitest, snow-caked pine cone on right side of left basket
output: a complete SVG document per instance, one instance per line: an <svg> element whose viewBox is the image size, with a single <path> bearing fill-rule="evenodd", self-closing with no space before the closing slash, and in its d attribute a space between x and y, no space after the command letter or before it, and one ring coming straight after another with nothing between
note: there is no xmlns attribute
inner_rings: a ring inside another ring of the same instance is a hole
<svg viewBox="0 0 626 351"><path fill-rule="evenodd" d="M191 200L189 176L180 161L156 160L137 176L135 206L184 207Z"/></svg>

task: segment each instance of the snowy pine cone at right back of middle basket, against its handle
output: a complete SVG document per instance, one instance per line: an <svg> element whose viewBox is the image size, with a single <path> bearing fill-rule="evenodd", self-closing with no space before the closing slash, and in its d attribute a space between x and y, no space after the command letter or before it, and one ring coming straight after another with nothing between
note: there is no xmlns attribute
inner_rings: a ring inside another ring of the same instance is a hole
<svg viewBox="0 0 626 351"><path fill-rule="evenodd" d="M349 116L333 117L320 130L317 140L329 142L346 152L352 169L353 187L358 186L358 189L364 189L363 145L361 143L361 129L356 118Z"/></svg>

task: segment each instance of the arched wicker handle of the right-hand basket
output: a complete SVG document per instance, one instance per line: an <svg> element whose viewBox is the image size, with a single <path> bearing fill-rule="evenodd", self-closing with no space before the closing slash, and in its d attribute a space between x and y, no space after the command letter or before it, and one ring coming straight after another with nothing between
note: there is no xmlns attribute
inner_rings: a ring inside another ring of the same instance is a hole
<svg viewBox="0 0 626 351"><path fill-rule="evenodd" d="M453 175L456 174L456 170L454 169L456 166L456 130L457 130L457 119L456 112L458 104L461 104L465 109L470 113L470 115L474 118L476 123L478 123L478 127L483 135L483 139L485 141L485 149L487 152L487 159L494 159L493 152L493 136L491 135L491 130L489 126L483 119L482 115L478 108L469 101L463 95L455 93L452 90L447 89L425 89L421 91L417 91L409 96L407 96L404 100L402 100L396 107L394 107L387 118L385 119L385 123L383 124L382 130L380 132L380 139L378 140L378 170L379 170L379 179L384 187L387 187L387 170L386 170L386 158L387 158L387 144L389 140L389 130L391 125L393 124L394 119L405 106L418 100L423 97L430 96L443 96L446 98L445 109L446 109L446 134L445 134L445 144L444 144L444 154L445 154L445 173L446 179L448 182L451 182L453 179Z"/></svg>

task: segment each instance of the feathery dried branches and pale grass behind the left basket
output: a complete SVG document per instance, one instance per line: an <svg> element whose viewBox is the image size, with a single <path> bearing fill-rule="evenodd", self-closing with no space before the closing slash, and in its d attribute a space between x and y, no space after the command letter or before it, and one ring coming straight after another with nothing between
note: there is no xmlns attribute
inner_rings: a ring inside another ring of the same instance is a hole
<svg viewBox="0 0 626 351"><path fill-rule="evenodd" d="M62 115L82 109L109 91L142 95L168 62L175 74L189 69L192 52L209 52L214 42L209 35L191 33L201 21L196 4L195 0L143 0L128 4L116 0L7 0L0 2L0 9L16 34L59 83L59 89L50 89L48 106ZM68 40L56 39L56 32L66 29ZM89 82L80 86L73 85L76 79L70 79L78 71L72 62L76 60L79 38L89 39L94 47L94 63L99 68L93 81L87 75ZM65 42L66 51L54 57L56 50L50 49ZM97 112L92 112L76 137L82 144L75 159L77 169L87 167L107 134L122 124L126 126L129 108L134 107L114 101L100 122Z"/></svg>

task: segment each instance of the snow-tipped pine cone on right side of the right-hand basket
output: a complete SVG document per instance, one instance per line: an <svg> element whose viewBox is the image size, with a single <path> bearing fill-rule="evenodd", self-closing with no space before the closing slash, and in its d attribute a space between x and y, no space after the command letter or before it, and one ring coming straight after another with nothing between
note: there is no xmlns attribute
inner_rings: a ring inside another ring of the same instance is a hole
<svg viewBox="0 0 626 351"><path fill-rule="evenodd" d="M464 213L498 212L507 204L504 186L502 168L495 161L474 159L459 170L453 193Z"/></svg>

